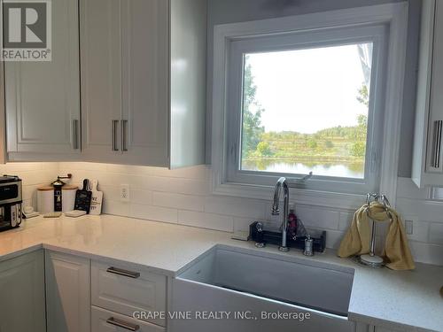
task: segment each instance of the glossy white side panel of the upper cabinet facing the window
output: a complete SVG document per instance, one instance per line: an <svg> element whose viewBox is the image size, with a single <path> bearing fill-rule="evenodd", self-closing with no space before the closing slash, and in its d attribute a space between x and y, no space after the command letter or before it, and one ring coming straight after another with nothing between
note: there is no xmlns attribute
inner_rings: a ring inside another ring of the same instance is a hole
<svg viewBox="0 0 443 332"><path fill-rule="evenodd" d="M206 0L171 0L170 166L205 163Z"/></svg>

